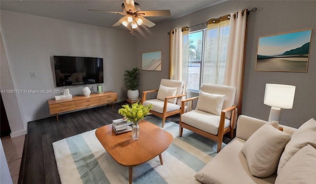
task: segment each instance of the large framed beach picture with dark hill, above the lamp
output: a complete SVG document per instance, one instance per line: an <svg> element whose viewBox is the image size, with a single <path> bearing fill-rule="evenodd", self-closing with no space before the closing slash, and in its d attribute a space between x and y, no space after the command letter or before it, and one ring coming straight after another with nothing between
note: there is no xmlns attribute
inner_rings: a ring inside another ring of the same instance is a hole
<svg viewBox="0 0 316 184"><path fill-rule="evenodd" d="M312 29L258 38L256 71L307 72Z"/></svg>

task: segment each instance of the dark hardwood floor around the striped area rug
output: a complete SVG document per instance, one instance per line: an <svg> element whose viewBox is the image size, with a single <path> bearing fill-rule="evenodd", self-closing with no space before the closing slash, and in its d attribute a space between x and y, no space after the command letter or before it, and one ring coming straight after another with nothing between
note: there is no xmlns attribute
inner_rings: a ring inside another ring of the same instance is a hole
<svg viewBox="0 0 316 184"><path fill-rule="evenodd" d="M80 110L31 121L25 137L19 184L60 184L52 143L100 126L111 124L113 119L121 118L118 109L125 102ZM179 115L166 118L179 124ZM224 137L224 143L230 142Z"/></svg>

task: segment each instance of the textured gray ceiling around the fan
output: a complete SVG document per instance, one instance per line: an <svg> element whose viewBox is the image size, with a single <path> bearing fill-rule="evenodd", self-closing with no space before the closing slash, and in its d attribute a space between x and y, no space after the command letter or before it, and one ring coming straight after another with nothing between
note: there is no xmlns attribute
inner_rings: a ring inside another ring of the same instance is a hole
<svg viewBox="0 0 316 184"><path fill-rule="evenodd" d="M171 11L170 17L146 17L156 24L182 17L222 1L224 0L135 0L141 5L141 10L169 9ZM0 0L0 8L101 27L126 29L122 25L112 27L123 15L87 10L121 12L122 2L123 0Z"/></svg>

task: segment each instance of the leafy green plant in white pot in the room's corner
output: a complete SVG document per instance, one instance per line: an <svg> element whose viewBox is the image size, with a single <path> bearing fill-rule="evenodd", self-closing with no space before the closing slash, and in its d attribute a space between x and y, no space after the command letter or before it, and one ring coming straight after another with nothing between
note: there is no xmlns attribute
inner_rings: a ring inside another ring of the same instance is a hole
<svg viewBox="0 0 316 184"><path fill-rule="evenodd" d="M139 91L137 86L139 85L139 68L133 68L132 70L125 70L126 74L124 81L127 91L127 98L131 100L137 100L139 98Z"/></svg>

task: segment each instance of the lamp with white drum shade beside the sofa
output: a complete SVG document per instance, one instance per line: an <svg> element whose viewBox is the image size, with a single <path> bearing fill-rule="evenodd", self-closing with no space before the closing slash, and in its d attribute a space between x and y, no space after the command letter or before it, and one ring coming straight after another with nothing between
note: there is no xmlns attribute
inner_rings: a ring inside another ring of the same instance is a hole
<svg viewBox="0 0 316 184"><path fill-rule="evenodd" d="M269 122L280 120L281 109L292 109L295 86L266 84L264 104L271 106Z"/></svg>

